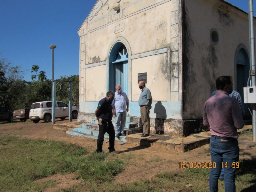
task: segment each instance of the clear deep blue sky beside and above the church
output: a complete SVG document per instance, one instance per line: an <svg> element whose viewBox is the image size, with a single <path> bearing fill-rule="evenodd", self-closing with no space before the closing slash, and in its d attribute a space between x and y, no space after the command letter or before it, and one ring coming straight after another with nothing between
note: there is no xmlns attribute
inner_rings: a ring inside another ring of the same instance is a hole
<svg viewBox="0 0 256 192"><path fill-rule="evenodd" d="M248 0L227 0L248 12ZM13 65L28 69L24 79L31 81L32 65L52 79L79 75L78 29L96 0L1 0L0 51ZM253 0L256 7L256 0ZM254 12L255 12L254 8ZM254 14L255 15L255 14ZM249 41L249 40L248 40Z"/></svg>

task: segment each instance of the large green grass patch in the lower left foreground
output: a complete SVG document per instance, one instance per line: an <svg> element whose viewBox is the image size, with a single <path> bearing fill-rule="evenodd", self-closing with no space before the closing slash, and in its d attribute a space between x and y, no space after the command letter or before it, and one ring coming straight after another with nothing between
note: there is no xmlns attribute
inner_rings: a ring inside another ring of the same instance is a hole
<svg viewBox="0 0 256 192"><path fill-rule="evenodd" d="M107 182L122 171L122 161L59 141L0 138L0 191L37 191L56 182L32 183L60 173L76 172L83 180Z"/></svg>

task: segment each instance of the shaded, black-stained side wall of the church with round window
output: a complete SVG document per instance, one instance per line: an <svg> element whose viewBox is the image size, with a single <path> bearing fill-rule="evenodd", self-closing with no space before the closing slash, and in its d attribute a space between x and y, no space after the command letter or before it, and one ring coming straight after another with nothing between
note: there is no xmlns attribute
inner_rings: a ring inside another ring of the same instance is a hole
<svg viewBox="0 0 256 192"><path fill-rule="evenodd" d="M203 118L203 107L221 75L235 82L235 52L249 50L248 14L219 0L183 0L183 119ZM210 31L217 29L214 45Z"/></svg>

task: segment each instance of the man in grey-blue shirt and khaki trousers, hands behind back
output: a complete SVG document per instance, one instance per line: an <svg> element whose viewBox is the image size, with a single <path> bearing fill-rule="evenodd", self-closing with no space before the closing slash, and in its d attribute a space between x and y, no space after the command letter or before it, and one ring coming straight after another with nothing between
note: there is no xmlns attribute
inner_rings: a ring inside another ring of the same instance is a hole
<svg viewBox="0 0 256 192"><path fill-rule="evenodd" d="M139 88L141 89L139 98L140 116L143 124L143 133L140 134L140 137L148 137L150 132L149 110L152 109L152 96L144 81L139 82Z"/></svg>

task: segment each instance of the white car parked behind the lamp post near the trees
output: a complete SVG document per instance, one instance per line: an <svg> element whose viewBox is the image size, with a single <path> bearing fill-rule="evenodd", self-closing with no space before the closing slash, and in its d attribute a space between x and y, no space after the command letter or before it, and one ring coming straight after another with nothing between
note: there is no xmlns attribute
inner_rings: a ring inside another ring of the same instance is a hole
<svg viewBox="0 0 256 192"><path fill-rule="evenodd" d="M72 118L76 119L79 113L79 108L72 106ZM67 103L56 101L55 104L55 117L64 120L69 115L69 107ZM43 101L33 103L29 111L29 119L34 123L44 120L48 123L52 119L52 101Z"/></svg>

